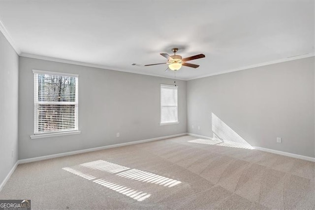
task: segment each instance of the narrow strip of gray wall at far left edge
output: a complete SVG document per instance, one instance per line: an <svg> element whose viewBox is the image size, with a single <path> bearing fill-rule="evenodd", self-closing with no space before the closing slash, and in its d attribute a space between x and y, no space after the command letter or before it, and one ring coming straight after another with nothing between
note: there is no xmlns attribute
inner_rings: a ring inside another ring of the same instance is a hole
<svg viewBox="0 0 315 210"><path fill-rule="evenodd" d="M18 160L19 56L2 33L0 34L0 183L2 183Z"/></svg>

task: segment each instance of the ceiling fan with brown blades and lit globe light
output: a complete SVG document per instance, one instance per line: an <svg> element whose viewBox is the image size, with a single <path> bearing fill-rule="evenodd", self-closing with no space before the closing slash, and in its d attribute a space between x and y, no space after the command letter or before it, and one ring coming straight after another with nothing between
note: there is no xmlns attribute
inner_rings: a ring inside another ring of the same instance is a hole
<svg viewBox="0 0 315 210"><path fill-rule="evenodd" d="M182 58L182 56L176 55L178 48L173 48L172 51L173 51L174 55L171 55L171 56L166 54L166 53L160 53L161 56L167 58L167 63L148 64L148 65L144 65L144 66L147 67L147 66L154 66L154 65L160 65L160 64L168 64L168 68L166 70L170 69L173 71L177 71L177 70L181 69L182 66L191 67L191 68L198 68L199 65L189 64L189 63L186 63L186 61L191 61L191 60L206 57L204 54L199 54L199 55L194 55L194 56L190 56L187 58Z"/></svg>

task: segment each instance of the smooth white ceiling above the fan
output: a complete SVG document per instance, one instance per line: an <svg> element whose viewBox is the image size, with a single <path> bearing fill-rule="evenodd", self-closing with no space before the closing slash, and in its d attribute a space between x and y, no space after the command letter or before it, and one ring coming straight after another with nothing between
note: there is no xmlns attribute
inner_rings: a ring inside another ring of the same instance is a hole
<svg viewBox="0 0 315 210"><path fill-rule="evenodd" d="M173 77L159 53L203 53L179 79L314 54L314 1L0 1L24 56L39 55ZM307 54L308 53L308 54ZM307 54L307 55L303 55Z"/></svg>

